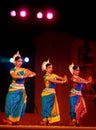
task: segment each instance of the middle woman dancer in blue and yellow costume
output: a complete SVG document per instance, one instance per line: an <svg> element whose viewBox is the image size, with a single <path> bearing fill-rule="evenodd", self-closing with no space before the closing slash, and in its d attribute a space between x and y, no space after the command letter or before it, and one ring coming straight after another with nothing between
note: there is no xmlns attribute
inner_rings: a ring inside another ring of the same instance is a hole
<svg viewBox="0 0 96 130"><path fill-rule="evenodd" d="M61 77L52 73L53 66L48 61L42 63L42 71L45 71L44 84L45 88L41 93L42 97L42 122L41 125L51 125L52 123L60 121L60 113L58 101L56 97L56 83L64 84L68 82L67 76Z"/></svg>

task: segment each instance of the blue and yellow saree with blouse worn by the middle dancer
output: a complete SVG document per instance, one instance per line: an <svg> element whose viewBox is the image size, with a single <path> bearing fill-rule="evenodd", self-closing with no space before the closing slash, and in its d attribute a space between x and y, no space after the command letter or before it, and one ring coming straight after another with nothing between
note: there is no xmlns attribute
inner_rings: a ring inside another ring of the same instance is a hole
<svg viewBox="0 0 96 130"><path fill-rule="evenodd" d="M45 75L45 88L42 91L42 118L43 121L48 120L49 123L60 121L60 113L58 101L55 92L55 84L49 82L49 78L56 78L55 74Z"/></svg>

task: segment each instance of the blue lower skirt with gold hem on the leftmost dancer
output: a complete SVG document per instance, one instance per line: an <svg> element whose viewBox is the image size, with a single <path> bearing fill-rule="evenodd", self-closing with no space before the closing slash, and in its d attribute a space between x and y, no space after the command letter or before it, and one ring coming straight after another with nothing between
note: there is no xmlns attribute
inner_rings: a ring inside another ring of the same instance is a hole
<svg viewBox="0 0 96 130"><path fill-rule="evenodd" d="M26 110L27 95L24 89L9 91L6 97L5 115L12 121L17 122Z"/></svg>

